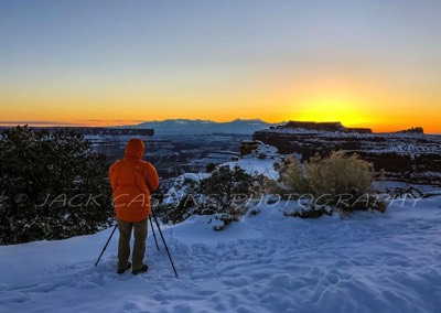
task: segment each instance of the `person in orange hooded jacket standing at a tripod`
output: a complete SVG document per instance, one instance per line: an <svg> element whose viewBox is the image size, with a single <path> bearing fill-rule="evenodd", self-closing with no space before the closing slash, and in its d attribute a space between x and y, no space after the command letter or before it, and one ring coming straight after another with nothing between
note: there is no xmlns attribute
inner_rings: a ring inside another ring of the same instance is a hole
<svg viewBox="0 0 441 313"><path fill-rule="evenodd" d="M157 170L150 162L142 160L144 143L141 139L127 142L125 156L116 161L109 169L109 179L114 194L119 242L118 273L132 267L132 273L146 272L143 263L146 255L147 219L150 215L150 192L159 186ZM130 257L130 237L135 233L132 262Z"/></svg>

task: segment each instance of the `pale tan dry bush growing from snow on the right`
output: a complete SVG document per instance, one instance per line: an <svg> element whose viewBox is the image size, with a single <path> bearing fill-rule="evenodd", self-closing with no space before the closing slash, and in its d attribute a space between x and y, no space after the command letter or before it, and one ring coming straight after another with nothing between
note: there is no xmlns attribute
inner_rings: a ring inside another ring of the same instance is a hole
<svg viewBox="0 0 441 313"><path fill-rule="evenodd" d="M304 164L288 156L275 168L280 176L277 182L267 180L269 193L290 198L308 195L313 207L322 209L323 205L331 205L344 214L359 209L384 211L381 202L374 196L373 164L357 154L338 151L327 159L316 155Z"/></svg>

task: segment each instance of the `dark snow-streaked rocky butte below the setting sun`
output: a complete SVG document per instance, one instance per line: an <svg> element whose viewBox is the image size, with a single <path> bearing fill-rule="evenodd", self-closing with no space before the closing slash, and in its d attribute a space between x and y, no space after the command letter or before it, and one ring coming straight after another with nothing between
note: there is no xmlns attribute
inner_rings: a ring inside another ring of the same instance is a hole
<svg viewBox="0 0 441 313"><path fill-rule="evenodd" d="M384 170L387 179L441 183L441 136L426 134L420 127L375 133L341 122L289 121L256 131L252 140L275 145L280 153L300 154L302 161L344 150L372 162L376 172Z"/></svg>

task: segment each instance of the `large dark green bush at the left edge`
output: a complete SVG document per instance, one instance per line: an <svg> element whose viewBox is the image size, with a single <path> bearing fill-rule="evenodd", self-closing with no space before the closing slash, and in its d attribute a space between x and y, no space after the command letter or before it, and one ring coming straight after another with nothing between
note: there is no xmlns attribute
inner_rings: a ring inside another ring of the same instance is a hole
<svg viewBox="0 0 441 313"><path fill-rule="evenodd" d="M0 139L0 245L97 231L114 216L106 158L72 130Z"/></svg>

